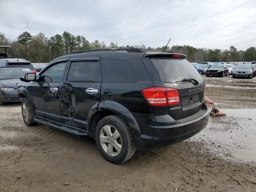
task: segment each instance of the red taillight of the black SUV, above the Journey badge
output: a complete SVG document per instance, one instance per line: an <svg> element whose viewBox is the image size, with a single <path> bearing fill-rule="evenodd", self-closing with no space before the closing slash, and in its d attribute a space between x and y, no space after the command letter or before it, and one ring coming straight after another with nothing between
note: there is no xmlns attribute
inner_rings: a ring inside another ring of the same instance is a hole
<svg viewBox="0 0 256 192"><path fill-rule="evenodd" d="M143 96L152 106L166 106L180 103L178 89L167 87L151 87L142 90Z"/></svg>

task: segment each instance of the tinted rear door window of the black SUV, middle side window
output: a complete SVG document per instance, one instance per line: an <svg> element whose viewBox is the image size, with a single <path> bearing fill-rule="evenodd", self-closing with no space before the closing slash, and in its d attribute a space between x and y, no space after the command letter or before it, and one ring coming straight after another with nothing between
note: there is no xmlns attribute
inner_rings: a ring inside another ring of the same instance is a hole
<svg viewBox="0 0 256 192"><path fill-rule="evenodd" d="M101 81L100 62L71 63L68 81Z"/></svg>

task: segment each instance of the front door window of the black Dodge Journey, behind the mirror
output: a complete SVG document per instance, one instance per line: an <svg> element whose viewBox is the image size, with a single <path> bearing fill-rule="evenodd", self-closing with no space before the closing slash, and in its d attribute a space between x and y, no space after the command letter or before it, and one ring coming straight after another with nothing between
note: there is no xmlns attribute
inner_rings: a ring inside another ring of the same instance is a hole
<svg viewBox="0 0 256 192"><path fill-rule="evenodd" d="M41 75L41 82L62 82L65 73L66 62L51 66Z"/></svg>

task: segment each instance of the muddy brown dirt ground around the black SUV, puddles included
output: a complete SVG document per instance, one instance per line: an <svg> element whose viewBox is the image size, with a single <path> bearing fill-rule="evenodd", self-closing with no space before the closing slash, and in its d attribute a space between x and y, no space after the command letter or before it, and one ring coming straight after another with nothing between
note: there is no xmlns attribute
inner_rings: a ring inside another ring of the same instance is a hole
<svg viewBox="0 0 256 192"><path fill-rule="evenodd" d="M107 162L93 139L26 127L20 104L0 106L0 192L256 191L256 78L203 77L208 98L227 115L120 165Z"/></svg>

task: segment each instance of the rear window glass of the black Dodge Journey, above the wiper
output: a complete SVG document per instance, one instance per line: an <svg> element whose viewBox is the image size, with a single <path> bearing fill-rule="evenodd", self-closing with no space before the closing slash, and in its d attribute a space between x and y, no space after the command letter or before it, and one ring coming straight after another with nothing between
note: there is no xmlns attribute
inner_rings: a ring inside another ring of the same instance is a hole
<svg viewBox="0 0 256 192"><path fill-rule="evenodd" d="M176 82L184 78L202 80L198 71L186 59L151 58L162 82Z"/></svg>

